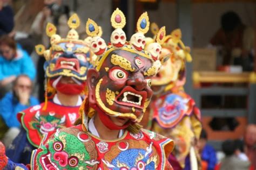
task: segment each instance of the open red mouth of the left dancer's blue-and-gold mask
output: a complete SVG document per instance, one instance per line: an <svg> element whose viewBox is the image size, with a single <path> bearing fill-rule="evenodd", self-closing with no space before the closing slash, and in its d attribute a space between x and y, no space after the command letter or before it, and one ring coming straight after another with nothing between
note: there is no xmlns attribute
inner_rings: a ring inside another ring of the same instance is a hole
<svg viewBox="0 0 256 170"><path fill-rule="evenodd" d="M77 59L59 58L56 61L55 70L63 68L74 70L75 72L79 73L79 62Z"/></svg>

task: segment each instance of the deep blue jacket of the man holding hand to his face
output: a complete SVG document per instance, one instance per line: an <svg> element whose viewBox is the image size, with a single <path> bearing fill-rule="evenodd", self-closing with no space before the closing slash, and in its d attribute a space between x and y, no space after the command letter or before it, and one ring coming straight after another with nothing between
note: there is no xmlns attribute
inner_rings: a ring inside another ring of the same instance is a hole
<svg viewBox="0 0 256 170"><path fill-rule="evenodd" d="M39 104L39 101L37 98L31 96L29 98L29 103L30 105L23 105L19 103L12 93L7 93L2 100L0 100L0 116L9 128L19 127L20 123L17 119L18 112Z"/></svg>

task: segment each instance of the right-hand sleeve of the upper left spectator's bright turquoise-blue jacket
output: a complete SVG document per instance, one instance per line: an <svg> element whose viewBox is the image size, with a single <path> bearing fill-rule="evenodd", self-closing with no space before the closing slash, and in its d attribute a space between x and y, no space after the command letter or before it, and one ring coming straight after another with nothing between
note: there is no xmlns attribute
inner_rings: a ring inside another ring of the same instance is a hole
<svg viewBox="0 0 256 170"><path fill-rule="evenodd" d="M22 53L24 58L22 62L22 74L28 75L30 79L33 81L36 76L35 65L27 52L23 50Z"/></svg>

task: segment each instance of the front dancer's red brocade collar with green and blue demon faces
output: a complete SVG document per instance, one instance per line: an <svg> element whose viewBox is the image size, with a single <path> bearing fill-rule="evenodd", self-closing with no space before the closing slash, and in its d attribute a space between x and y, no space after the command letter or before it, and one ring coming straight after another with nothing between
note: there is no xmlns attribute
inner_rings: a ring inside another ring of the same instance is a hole
<svg viewBox="0 0 256 170"><path fill-rule="evenodd" d="M35 150L31 168L171 169L166 162L173 147L170 141L147 130L136 134L126 131L121 138L107 141L78 125L58 130L46 145Z"/></svg>

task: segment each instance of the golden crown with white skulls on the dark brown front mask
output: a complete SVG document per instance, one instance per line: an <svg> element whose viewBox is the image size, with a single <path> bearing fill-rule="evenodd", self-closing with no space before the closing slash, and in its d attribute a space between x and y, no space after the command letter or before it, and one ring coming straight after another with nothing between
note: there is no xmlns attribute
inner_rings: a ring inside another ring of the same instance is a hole
<svg viewBox="0 0 256 170"><path fill-rule="evenodd" d="M159 29L154 42L145 48L146 42L144 34L149 31L150 26L147 12L144 12L139 17L137 22L137 33L132 35L130 41L126 41L126 34L123 31L123 27L126 24L124 13L118 8L112 13L111 24L114 31L110 37L111 43L107 45L104 39L98 36L99 26L96 22L90 18L86 22L86 33L88 36L92 37L90 43L91 50L98 56L95 62L97 70L100 69L108 54L115 49L122 49L132 53L137 53L140 56L151 59L156 68L160 67L161 63L159 56L161 44L163 44L165 38L165 27L161 27L161 29Z"/></svg>

